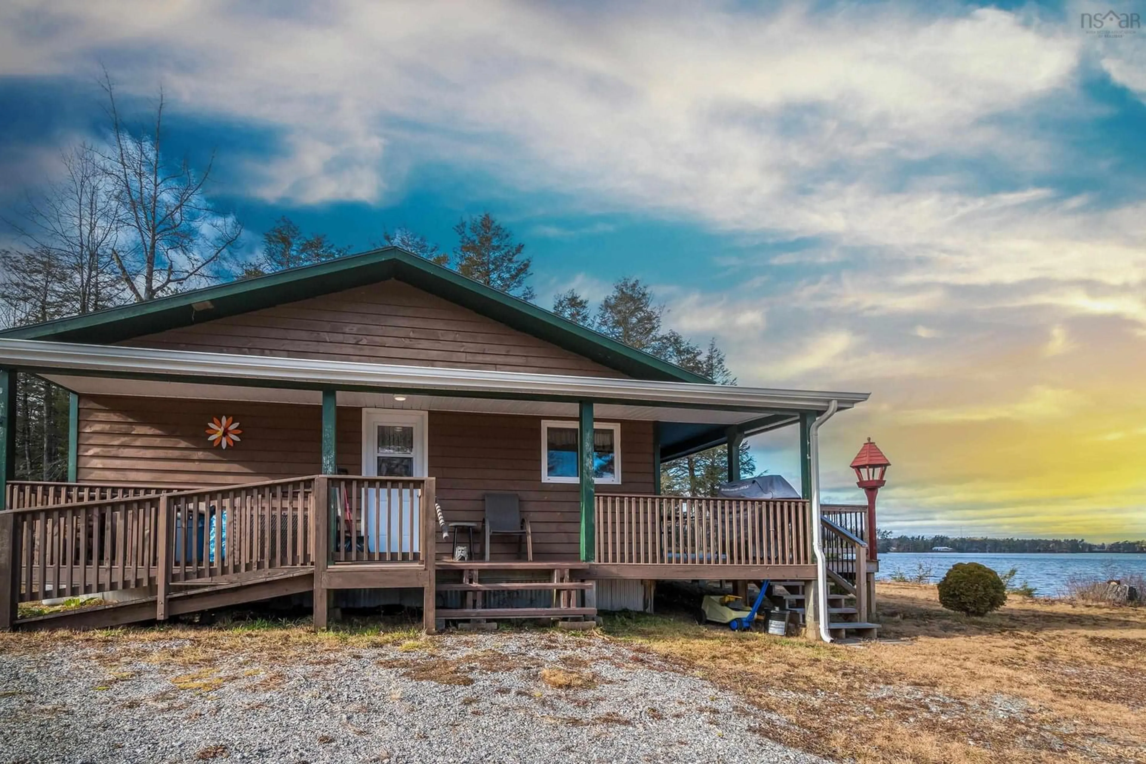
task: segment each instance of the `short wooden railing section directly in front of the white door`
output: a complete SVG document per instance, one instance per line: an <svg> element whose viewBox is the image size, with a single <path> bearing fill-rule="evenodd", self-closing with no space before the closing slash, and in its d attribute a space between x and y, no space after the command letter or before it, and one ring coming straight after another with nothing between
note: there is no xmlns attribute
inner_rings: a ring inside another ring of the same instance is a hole
<svg viewBox="0 0 1146 764"><path fill-rule="evenodd" d="M433 506L425 505L424 478L339 475L327 480L331 562L409 562L423 558L423 526L438 517Z"/></svg>

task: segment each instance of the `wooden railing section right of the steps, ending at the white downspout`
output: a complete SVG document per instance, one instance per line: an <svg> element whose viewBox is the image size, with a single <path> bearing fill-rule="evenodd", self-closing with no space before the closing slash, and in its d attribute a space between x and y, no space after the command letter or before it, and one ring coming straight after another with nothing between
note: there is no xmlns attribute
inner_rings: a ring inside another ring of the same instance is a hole
<svg viewBox="0 0 1146 764"><path fill-rule="evenodd" d="M808 502L599 495L606 565L811 565Z"/></svg>

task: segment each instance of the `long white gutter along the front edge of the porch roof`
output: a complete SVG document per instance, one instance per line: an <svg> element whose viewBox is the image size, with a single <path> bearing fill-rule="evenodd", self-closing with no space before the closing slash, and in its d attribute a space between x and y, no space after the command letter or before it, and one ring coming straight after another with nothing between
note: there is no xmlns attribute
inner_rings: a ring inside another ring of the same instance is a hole
<svg viewBox="0 0 1146 764"><path fill-rule="evenodd" d="M286 359L234 353L0 339L0 367L71 371L79 376L193 378L204 383L293 388L380 388L457 395L523 395L642 402L708 409L816 410L831 401L851 408L868 393L732 387L685 381L437 369L382 363Z"/></svg>

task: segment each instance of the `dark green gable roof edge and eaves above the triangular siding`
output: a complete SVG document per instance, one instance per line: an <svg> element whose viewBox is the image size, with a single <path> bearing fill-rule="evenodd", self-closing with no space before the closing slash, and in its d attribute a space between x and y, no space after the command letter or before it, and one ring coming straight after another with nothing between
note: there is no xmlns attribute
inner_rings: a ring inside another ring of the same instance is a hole
<svg viewBox="0 0 1146 764"><path fill-rule="evenodd" d="M108 345L390 278L466 307L636 379L711 383L706 377L631 348L397 246L181 292L149 302L133 302L70 318L17 326L0 332L0 337Z"/></svg>

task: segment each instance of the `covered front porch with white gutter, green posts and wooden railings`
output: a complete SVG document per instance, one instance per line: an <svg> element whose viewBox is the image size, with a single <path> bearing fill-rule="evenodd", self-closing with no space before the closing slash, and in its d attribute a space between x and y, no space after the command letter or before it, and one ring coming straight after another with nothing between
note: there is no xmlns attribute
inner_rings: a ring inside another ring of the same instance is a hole
<svg viewBox="0 0 1146 764"><path fill-rule="evenodd" d="M6 450L0 576L10 596L0 625L8 627L21 601L120 590L160 620L209 596L226 602L249 601L252 592L312 591L321 627L331 591L421 588L432 630L441 613L463 617L478 609L465 604L479 592L511 583L493 581L486 575L493 570L543 575L518 583L552 591L555 609L571 616L595 612L594 582L603 580L813 581L813 423L866 399L10 339L0 340L0 364L6 424L17 370L65 387L73 402L68 482L10 480ZM81 443L81 405L99 420L93 432L119 426L95 403L81 403L105 399L152 412L204 401L264 407L272 418L303 423L299 432L313 430L314 448L303 448L297 433L295 442L284 438L280 456L270 457L277 460L258 468L288 476L244 481L231 459L253 440L223 451L210 449L204 435L189 466L186 452L166 444L156 447L158 456L142 454L134 431ZM735 480L735 446L778 427L799 439L803 498L662 495L662 460L730 443ZM547 428L574 431L572 474L563 466L563 438L544 440ZM379 441L395 433L398 451ZM610 472L615 480L602 480ZM534 559L508 546L453 559L444 530L482 522L482 496L492 491L520 497ZM855 568L866 546L864 529L855 530L847 531L851 539L834 534L847 542L838 556L850 569L840 577L853 586L864 580ZM449 591L462 592L462 607L438 607Z"/></svg>

